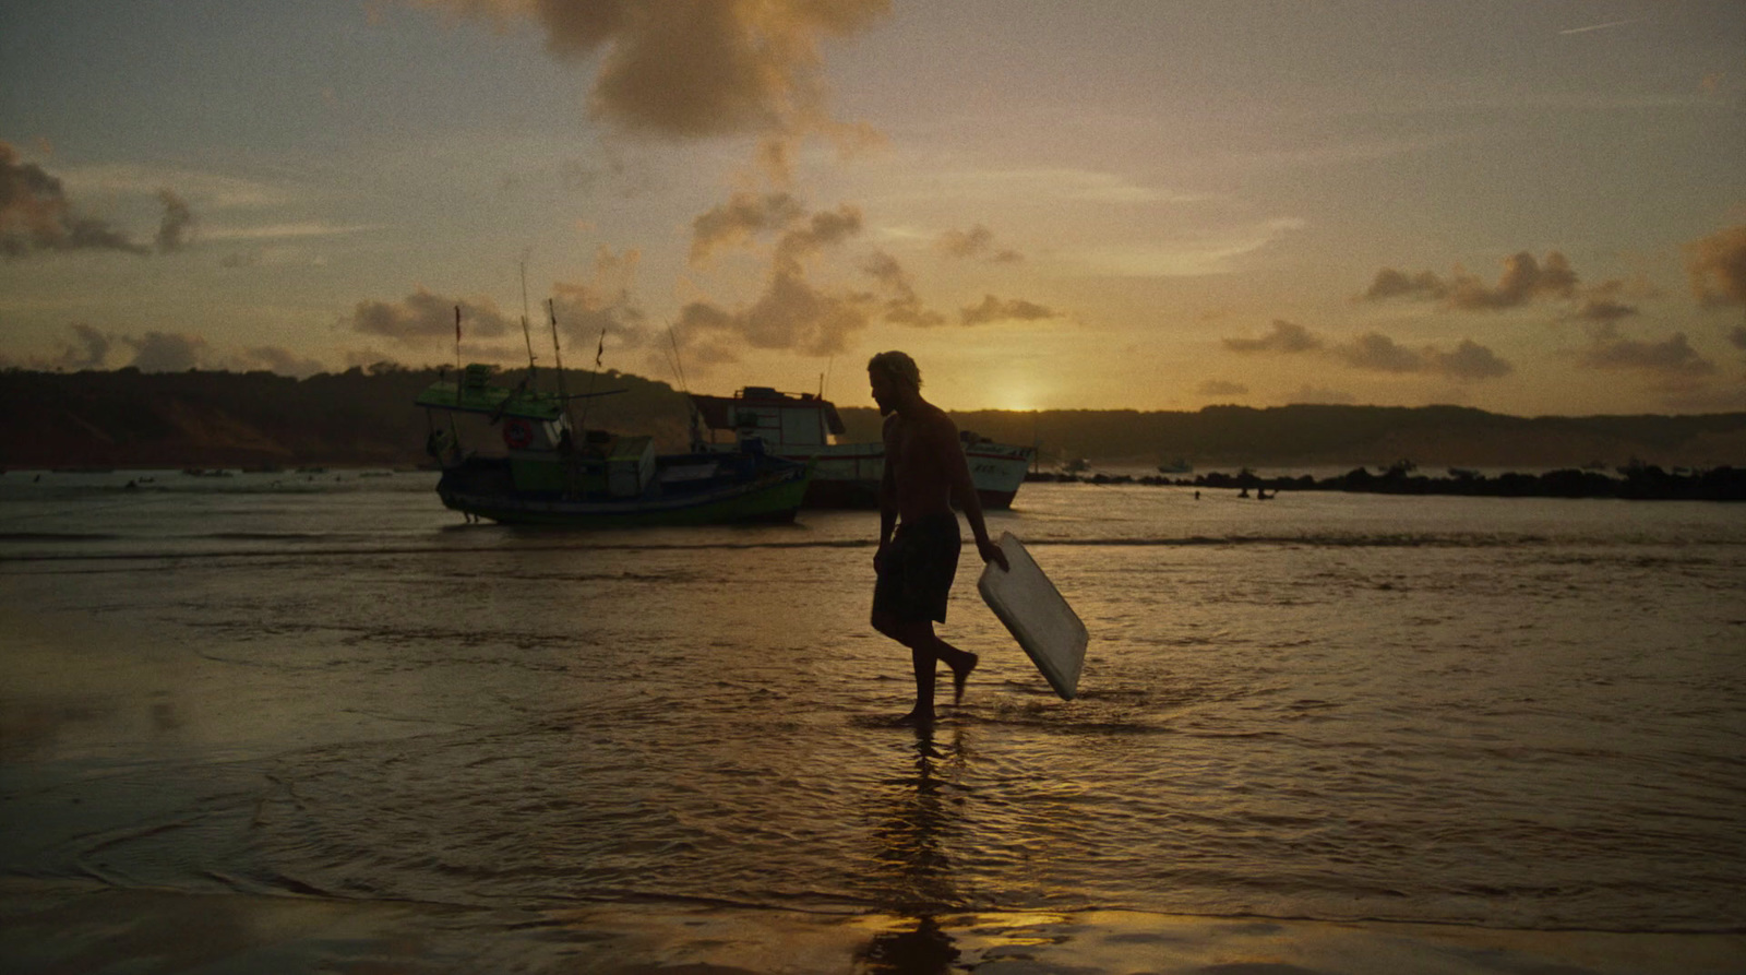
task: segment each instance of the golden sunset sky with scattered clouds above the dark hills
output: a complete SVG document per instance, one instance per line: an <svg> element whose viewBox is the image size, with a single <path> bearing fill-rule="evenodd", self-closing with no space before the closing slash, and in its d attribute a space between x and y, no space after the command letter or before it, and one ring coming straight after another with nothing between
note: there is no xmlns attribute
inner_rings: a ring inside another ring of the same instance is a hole
<svg viewBox="0 0 1746 975"><path fill-rule="evenodd" d="M0 365L1746 409L1746 3L0 5Z"/></svg>

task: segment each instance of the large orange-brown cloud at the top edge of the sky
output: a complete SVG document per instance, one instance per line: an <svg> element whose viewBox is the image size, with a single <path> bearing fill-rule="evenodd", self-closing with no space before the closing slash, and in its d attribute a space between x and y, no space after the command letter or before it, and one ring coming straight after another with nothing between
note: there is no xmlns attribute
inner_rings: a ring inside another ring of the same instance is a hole
<svg viewBox="0 0 1746 975"><path fill-rule="evenodd" d="M531 17L552 54L595 65L595 119L667 138L854 138L826 112L821 44L861 33L890 9L889 0L409 2L499 26Z"/></svg>

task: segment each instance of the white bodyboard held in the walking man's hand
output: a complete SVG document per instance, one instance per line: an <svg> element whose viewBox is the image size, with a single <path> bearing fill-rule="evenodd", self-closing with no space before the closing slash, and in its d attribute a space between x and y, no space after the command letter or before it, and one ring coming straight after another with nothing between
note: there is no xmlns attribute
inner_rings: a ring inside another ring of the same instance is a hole
<svg viewBox="0 0 1746 975"><path fill-rule="evenodd" d="M976 591L1025 648L1030 662L1037 664L1055 694L1062 701L1072 701L1079 694L1079 671L1091 641L1086 624L1079 622L1079 615L1011 531L1000 535L1000 550L1011 570L1002 571L986 563Z"/></svg>

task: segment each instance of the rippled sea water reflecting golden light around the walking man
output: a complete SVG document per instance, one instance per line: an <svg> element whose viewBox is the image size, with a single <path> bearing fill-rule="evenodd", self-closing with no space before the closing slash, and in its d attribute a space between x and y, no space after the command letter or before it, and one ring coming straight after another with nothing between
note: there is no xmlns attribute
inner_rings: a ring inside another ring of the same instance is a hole
<svg viewBox="0 0 1746 975"><path fill-rule="evenodd" d="M529 531L433 484L0 475L0 877L463 940L601 905L1746 931L1741 507L1028 484L988 522L1084 619L1081 697L967 550L939 631L983 666L918 732L876 514Z"/></svg>

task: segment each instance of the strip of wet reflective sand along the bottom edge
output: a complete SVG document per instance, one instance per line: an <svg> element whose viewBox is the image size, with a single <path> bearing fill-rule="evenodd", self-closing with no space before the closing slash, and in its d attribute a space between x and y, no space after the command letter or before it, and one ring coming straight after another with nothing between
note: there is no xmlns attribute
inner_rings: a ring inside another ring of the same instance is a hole
<svg viewBox="0 0 1746 975"><path fill-rule="evenodd" d="M1746 972L1746 935L1123 910L918 919L618 903L527 914L5 879L0 958L5 972L31 973L1704 975Z"/></svg>

